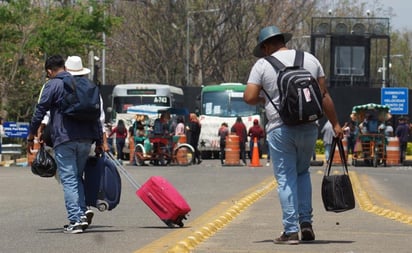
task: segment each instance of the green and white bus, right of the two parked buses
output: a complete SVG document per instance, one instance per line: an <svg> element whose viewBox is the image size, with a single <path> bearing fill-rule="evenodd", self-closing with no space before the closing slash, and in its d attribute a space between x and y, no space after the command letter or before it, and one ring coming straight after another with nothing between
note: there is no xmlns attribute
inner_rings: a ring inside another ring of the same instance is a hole
<svg viewBox="0 0 412 253"><path fill-rule="evenodd" d="M246 130L253 125L253 120L258 119L263 126L263 107L248 105L243 100L246 85L241 83L222 83L208 85L201 92L200 123L202 130L199 138L199 150L204 158L218 158L220 139L218 129L223 122L229 130L238 116L242 117ZM249 149L249 145L246 145Z"/></svg>

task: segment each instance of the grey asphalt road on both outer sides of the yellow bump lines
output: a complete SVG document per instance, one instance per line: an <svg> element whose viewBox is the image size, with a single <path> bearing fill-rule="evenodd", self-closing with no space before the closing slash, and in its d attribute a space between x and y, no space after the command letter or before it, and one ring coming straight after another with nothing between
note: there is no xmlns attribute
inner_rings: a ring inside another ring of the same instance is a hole
<svg viewBox="0 0 412 253"><path fill-rule="evenodd" d="M214 215L272 178L269 167L222 167L217 160L205 160L201 165L188 167L126 168L140 183L152 175L161 175L176 186L192 207L184 228L167 228L122 178L122 198L116 209L106 212L94 209L90 229L78 235L64 234L66 211L57 181L35 176L27 167L1 167L0 252L165 252L180 240L179 234L190 232L201 222L207 224L216 219ZM359 174L360 180L367 176L382 199L392 199L400 207L412 210L408 196L412 190L412 168L352 169ZM322 167L312 170L319 173ZM163 247L163 251L159 247Z"/></svg>

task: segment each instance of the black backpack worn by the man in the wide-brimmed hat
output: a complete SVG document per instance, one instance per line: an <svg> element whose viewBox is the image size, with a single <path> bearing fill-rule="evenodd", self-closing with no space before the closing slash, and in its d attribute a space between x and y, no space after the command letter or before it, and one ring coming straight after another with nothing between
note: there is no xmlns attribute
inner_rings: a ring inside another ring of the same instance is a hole
<svg viewBox="0 0 412 253"><path fill-rule="evenodd" d="M286 125L299 125L316 121L323 116L322 93L317 80L303 68L303 51L296 51L293 66L285 66L274 56L267 60L279 73L279 107L263 89L269 101Z"/></svg>

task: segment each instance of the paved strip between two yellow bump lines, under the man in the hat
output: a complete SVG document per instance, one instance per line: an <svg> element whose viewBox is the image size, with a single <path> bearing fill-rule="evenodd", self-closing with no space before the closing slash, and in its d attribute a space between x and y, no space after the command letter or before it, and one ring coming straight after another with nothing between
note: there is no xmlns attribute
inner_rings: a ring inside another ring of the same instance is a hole
<svg viewBox="0 0 412 253"><path fill-rule="evenodd" d="M399 219L391 219L388 210L384 210L383 214L376 212L376 210L364 211L359 205L365 205L367 201L364 200L365 197L360 196L359 198L359 194L356 196L357 206L354 210L339 214L326 212L320 196L322 169L312 171L313 228L316 234L314 242L300 243L299 245L276 245L273 243L273 239L282 232L282 225L276 189L271 188L267 194L265 193L222 229L213 233L210 238L196 243L197 234L195 231L194 236L189 236L180 244L186 246L189 244L188 247L191 250L188 252L193 253L411 252L412 220L403 223ZM357 180L356 174L354 176L355 180L352 181ZM359 185L359 182L354 182L354 188L358 187L356 185ZM356 191L358 192L358 189ZM201 231L197 231L197 233L203 234ZM175 251L169 252L186 252L182 248L175 249Z"/></svg>

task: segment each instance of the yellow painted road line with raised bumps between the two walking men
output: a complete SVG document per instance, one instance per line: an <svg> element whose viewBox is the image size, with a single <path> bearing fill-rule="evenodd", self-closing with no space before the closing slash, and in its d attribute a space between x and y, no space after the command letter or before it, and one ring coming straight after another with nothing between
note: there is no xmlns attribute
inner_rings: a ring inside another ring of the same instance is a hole
<svg viewBox="0 0 412 253"><path fill-rule="evenodd" d="M188 223L186 228L176 229L176 231L163 236L134 253L189 253L198 244L213 236L275 187L276 182L273 176L270 176L237 196L220 202L196 220Z"/></svg>

